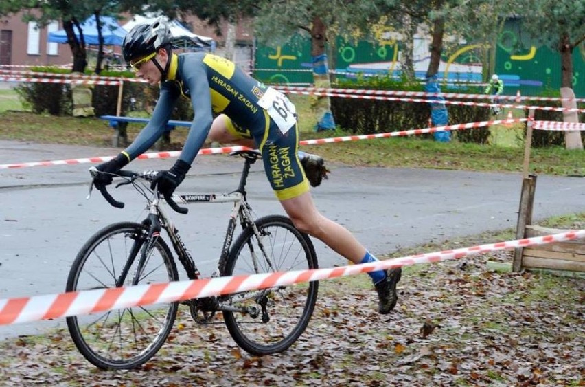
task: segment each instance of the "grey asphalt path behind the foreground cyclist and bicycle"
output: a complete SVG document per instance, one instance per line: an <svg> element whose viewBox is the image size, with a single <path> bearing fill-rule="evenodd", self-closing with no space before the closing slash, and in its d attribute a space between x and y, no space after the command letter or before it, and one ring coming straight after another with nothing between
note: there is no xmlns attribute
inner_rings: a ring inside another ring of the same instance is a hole
<svg viewBox="0 0 585 387"><path fill-rule="evenodd" d="M113 148L0 141L0 164L118 152ZM165 169L173 162L137 160L130 166L135 170ZM242 165L241 159L227 155L200 156L180 191L229 192L238 184ZM64 291L69 267L93 233L115 221L141 221L144 217L144 201L128 186L113 192L126 203L123 210L109 206L97 191L86 199L89 166L0 170L0 299ZM312 190L317 208L354 232L374 254L516 226L521 186L518 173L330 167L331 178ZM261 163L252 168L248 191L258 216L284 214ZM216 267L229 210L229 204L195 204L189 214L174 216L204 275ZM538 176L535 221L582 211L584 178ZM319 241L314 244L321 267L346 264ZM0 327L0 339L58 326L64 326L64 319Z"/></svg>

